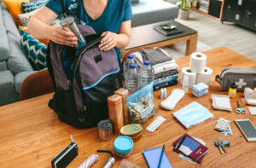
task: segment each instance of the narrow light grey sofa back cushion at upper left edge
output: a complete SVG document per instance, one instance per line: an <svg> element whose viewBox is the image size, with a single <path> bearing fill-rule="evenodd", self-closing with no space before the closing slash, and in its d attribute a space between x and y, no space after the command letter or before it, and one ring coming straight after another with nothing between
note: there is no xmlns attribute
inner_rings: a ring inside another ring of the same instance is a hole
<svg viewBox="0 0 256 168"><path fill-rule="evenodd" d="M3 13L0 8L0 61L6 61L9 58L9 44L5 27L3 26Z"/></svg>

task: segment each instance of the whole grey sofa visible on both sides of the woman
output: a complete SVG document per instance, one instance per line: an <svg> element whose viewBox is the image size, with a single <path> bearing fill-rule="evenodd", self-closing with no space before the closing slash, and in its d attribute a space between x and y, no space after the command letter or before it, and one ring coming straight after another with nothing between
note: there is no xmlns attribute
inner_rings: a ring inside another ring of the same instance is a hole
<svg viewBox="0 0 256 168"><path fill-rule="evenodd" d="M23 81L36 72L20 45L20 32L0 0L0 106L19 101ZM177 18L177 6L163 0L136 0L131 25L143 26ZM33 83L31 80L28 80Z"/></svg>

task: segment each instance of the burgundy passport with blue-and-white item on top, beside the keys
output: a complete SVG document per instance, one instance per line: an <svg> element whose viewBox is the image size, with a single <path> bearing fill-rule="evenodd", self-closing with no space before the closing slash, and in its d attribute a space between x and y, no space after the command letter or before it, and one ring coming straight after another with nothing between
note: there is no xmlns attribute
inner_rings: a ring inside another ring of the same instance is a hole
<svg viewBox="0 0 256 168"><path fill-rule="evenodd" d="M202 159L207 154L208 148L197 142L193 137L184 134L177 141L173 142L177 153L184 154L196 162L201 163Z"/></svg>

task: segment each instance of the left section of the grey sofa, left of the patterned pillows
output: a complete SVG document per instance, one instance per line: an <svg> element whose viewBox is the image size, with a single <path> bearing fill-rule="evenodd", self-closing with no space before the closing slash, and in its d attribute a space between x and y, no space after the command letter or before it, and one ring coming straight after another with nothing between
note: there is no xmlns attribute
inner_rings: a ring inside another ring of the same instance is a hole
<svg viewBox="0 0 256 168"><path fill-rule="evenodd" d="M19 101L20 86L33 68L21 49L20 32L0 1L0 106Z"/></svg>

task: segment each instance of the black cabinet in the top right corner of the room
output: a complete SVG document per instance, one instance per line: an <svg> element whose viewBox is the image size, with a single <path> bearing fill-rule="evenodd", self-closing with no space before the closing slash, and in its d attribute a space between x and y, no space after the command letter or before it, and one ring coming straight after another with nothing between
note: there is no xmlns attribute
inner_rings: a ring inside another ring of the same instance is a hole
<svg viewBox="0 0 256 168"><path fill-rule="evenodd" d="M222 20L256 31L256 0L225 0Z"/></svg>

